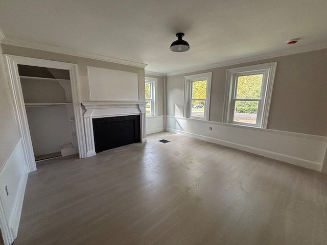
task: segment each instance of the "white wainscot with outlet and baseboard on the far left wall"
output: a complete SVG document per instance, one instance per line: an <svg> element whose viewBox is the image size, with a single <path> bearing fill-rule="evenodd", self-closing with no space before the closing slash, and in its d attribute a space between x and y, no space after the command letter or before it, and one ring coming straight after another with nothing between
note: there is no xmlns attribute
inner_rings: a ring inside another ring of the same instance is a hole
<svg viewBox="0 0 327 245"><path fill-rule="evenodd" d="M28 174L20 138L0 172L0 227L6 245L17 237Z"/></svg>

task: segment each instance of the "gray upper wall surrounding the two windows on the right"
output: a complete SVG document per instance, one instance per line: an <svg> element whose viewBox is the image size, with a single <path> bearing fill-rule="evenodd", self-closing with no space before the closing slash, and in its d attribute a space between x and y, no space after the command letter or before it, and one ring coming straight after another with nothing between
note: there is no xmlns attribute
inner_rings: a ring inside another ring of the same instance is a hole
<svg viewBox="0 0 327 245"><path fill-rule="evenodd" d="M184 76L212 71L210 121L222 122L226 70L277 62L268 129L327 136L327 49L167 78L167 115L182 116Z"/></svg>

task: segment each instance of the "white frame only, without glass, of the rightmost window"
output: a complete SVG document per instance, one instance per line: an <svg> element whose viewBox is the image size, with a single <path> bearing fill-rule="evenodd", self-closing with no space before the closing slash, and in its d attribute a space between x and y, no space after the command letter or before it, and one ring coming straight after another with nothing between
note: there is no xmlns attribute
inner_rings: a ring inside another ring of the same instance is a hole
<svg viewBox="0 0 327 245"><path fill-rule="evenodd" d="M223 122L227 124L235 124L263 129L267 128L276 66L277 62L272 62L266 64L227 69ZM258 100L249 100L259 102L256 124L247 124L245 122L233 121L235 101L238 100L236 99L238 77L258 74L263 74L260 98Z"/></svg>

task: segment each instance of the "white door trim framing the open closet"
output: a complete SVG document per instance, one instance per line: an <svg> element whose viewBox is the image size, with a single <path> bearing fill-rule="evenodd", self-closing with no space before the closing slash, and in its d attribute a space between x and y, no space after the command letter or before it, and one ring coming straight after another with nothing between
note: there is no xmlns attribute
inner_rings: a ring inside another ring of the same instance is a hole
<svg viewBox="0 0 327 245"><path fill-rule="evenodd" d="M71 78L72 94L73 94L73 107L76 117L79 157L85 158L86 144L85 144L85 135L83 130L84 126L83 126L81 100L78 94L77 65L71 63L42 60L42 59L6 55L6 54L4 54L4 61L5 61L5 66L8 76L9 88L12 93L16 120L19 125L19 133L23 139L24 147L27 153L25 157L26 157L26 162L28 163L29 171L31 172L36 170L36 164L34 160L30 129L28 126L28 120L26 116L24 97L22 95L21 84L19 79L18 66L17 66L18 64L69 70L69 76Z"/></svg>

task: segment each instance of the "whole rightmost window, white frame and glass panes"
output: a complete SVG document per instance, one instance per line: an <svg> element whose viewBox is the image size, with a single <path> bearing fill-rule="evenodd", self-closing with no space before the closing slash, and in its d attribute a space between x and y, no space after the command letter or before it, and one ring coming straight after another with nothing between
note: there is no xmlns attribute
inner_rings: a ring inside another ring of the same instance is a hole
<svg viewBox="0 0 327 245"><path fill-rule="evenodd" d="M277 63L227 70L224 122L267 128Z"/></svg>

